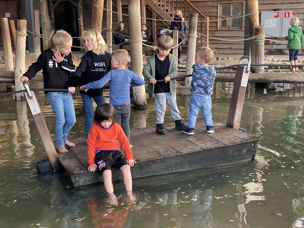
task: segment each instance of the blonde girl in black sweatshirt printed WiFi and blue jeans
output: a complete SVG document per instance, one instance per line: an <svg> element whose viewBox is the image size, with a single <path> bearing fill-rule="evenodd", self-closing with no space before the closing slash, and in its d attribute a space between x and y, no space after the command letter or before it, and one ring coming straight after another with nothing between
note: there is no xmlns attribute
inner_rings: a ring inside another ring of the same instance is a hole
<svg viewBox="0 0 304 228"><path fill-rule="evenodd" d="M107 45L97 29L86 30L81 35L87 53L81 58L81 62L76 72L71 76L67 83L69 92L74 93L75 87L86 85L93 81L103 78L111 70L111 54L106 52ZM88 133L92 127L94 117L93 100L98 105L105 103L105 97L102 89L80 91L82 102L86 111L85 115L85 136L88 139Z"/></svg>

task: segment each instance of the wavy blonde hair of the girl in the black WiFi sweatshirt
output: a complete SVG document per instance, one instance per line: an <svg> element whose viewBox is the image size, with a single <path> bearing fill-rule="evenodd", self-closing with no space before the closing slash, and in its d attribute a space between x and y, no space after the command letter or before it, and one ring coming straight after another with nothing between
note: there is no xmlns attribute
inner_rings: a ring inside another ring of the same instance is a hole
<svg viewBox="0 0 304 228"><path fill-rule="evenodd" d="M94 51L96 53L99 53L99 55L105 54L105 51L107 50L107 44L105 43L105 40L102 38L101 33L97 29L90 29L82 32L80 41L84 47L85 47L85 36L91 38L92 43L95 47Z"/></svg>

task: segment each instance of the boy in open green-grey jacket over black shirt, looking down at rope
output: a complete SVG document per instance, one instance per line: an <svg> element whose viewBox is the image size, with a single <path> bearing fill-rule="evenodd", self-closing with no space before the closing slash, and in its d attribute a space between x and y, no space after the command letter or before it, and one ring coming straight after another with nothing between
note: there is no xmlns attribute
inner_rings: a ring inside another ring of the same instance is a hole
<svg viewBox="0 0 304 228"><path fill-rule="evenodd" d="M143 77L150 81L148 84L149 97L153 98L155 94L156 104L156 133L162 135L166 131L163 126L166 103L171 109L171 115L175 121L175 129L185 128L181 122L180 112L176 104L176 81L170 80L178 74L176 57L169 54L173 46L173 40L170 36L161 36L157 41L158 53L147 58L147 64L143 68ZM164 79L164 82L156 80Z"/></svg>

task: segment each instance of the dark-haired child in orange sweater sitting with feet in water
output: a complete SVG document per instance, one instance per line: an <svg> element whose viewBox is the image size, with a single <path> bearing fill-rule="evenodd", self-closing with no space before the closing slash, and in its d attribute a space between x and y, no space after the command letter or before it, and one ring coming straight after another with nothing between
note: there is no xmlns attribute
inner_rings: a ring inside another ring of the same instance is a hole
<svg viewBox="0 0 304 228"><path fill-rule="evenodd" d="M102 172L108 202L117 206L112 183L112 169L119 168L123 172L123 181L127 196L132 195L132 177L130 167L136 162L133 159L130 143L121 126L116 123L116 112L113 105L101 103L95 110L95 124L88 135L88 170L95 172L96 168ZM119 141L126 157L120 150Z"/></svg>

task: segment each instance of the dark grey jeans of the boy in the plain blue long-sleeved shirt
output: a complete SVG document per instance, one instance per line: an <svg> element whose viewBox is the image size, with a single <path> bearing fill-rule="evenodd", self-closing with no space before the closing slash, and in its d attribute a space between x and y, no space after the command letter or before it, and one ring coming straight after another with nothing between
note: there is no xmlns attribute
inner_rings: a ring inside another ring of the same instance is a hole
<svg viewBox="0 0 304 228"><path fill-rule="evenodd" d="M113 107L116 112L116 123L118 123L123 128L123 132L126 134L128 140L130 141L129 119L131 114L131 104L113 105Z"/></svg>

